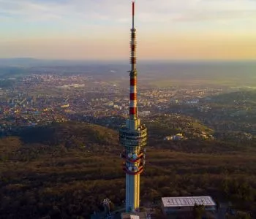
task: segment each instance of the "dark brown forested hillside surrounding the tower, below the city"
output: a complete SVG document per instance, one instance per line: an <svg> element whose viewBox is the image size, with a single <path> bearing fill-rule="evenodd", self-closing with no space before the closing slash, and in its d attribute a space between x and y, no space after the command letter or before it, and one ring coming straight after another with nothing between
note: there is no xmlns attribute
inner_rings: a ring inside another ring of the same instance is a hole
<svg viewBox="0 0 256 219"><path fill-rule="evenodd" d="M240 210L256 209L256 148L227 150L223 142L193 140L174 151L151 141L142 202L207 194ZM215 145L219 153L196 153ZM120 152L116 131L87 123L56 123L0 139L0 218L88 218L106 197L118 207L125 196Z"/></svg>

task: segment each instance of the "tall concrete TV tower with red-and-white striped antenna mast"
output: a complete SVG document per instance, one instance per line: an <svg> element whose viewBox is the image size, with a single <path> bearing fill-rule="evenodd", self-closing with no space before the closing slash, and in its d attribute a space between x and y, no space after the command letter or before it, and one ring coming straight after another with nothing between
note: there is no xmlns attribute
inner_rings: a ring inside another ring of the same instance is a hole
<svg viewBox="0 0 256 219"><path fill-rule="evenodd" d="M119 131L119 141L124 147L121 158L124 158L123 170L126 173L126 212L136 212L140 207L140 174L145 166L147 141L146 126L140 124L137 107L137 69L136 69L136 29L135 2L132 2L131 29L131 70L129 93L129 119Z"/></svg>

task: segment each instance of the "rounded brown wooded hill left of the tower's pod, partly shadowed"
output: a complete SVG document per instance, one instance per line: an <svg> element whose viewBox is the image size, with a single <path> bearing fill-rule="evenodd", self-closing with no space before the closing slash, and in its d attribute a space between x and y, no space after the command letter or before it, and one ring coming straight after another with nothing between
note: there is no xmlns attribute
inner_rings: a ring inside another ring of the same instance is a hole
<svg viewBox="0 0 256 219"><path fill-rule="evenodd" d="M118 145L118 135L115 131L89 123L53 123L47 126L22 128L14 131L12 135L14 137L10 138L6 147L2 143L0 158L4 156L11 160L13 158L23 161L69 150L102 154L116 151ZM13 147L9 145L16 145L18 155L12 156Z"/></svg>

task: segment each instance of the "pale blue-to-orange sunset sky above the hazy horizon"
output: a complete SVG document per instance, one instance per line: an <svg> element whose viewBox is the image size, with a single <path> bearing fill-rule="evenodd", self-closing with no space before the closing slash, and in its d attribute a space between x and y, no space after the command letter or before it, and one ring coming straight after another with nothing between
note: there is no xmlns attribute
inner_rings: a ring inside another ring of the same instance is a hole
<svg viewBox="0 0 256 219"><path fill-rule="evenodd" d="M128 61L131 2L0 0L0 58ZM135 2L138 59L256 59L256 0Z"/></svg>

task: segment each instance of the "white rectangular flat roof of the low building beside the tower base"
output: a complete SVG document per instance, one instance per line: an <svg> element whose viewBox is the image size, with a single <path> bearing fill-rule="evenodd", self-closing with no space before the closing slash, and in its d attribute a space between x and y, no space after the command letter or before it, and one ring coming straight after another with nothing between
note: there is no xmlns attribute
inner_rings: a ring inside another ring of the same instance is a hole
<svg viewBox="0 0 256 219"><path fill-rule="evenodd" d="M164 197L162 198L164 207L187 207L195 204L204 206L216 206L210 196L191 196L191 197Z"/></svg>

